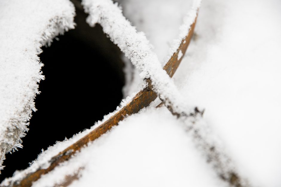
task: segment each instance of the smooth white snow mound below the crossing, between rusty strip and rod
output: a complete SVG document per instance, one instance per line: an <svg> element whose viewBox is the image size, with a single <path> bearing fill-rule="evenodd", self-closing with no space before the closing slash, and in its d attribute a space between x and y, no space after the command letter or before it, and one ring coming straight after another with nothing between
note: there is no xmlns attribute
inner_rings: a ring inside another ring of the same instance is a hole
<svg viewBox="0 0 281 187"><path fill-rule="evenodd" d="M222 186L192 141L166 108L143 109L33 186L61 184L78 168L70 186Z"/></svg>

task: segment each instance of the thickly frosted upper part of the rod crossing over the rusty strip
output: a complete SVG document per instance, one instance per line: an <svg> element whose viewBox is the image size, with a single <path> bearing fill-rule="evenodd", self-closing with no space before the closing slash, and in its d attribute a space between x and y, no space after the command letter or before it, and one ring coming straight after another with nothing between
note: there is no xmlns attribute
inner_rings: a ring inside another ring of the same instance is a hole
<svg viewBox="0 0 281 187"><path fill-rule="evenodd" d="M98 23L103 27L104 33L114 44L117 44L138 69L141 78L152 80L153 90L173 113L193 111L181 104L184 97L178 92L166 71L162 69L146 36L132 27L117 3L114 4L111 0L85 0L82 4L85 12L89 13L87 22L91 26Z"/></svg>

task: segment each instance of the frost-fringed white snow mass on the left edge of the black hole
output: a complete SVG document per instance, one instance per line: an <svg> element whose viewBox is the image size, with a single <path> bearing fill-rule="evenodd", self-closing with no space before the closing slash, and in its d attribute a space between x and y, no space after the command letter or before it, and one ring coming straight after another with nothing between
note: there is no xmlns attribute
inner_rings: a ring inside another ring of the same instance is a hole
<svg viewBox="0 0 281 187"><path fill-rule="evenodd" d="M44 79L37 56L42 45L74 28L68 0L0 1L0 169L5 153L22 147L34 97ZM54 104L55 106L55 104Z"/></svg>

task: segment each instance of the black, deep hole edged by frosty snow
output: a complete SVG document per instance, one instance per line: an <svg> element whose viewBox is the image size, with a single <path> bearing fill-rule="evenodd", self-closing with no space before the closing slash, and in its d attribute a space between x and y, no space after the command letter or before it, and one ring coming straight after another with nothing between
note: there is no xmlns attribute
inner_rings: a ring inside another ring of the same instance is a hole
<svg viewBox="0 0 281 187"><path fill-rule="evenodd" d="M124 85L121 52L103 33L85 22L83 10L76 10L77 26L43 47L40 55L45 80L39 84L30 130L22 138L23 149L6 154L2 181L15 170L25 169L42 149L102 120L122 99Z"/></svg>

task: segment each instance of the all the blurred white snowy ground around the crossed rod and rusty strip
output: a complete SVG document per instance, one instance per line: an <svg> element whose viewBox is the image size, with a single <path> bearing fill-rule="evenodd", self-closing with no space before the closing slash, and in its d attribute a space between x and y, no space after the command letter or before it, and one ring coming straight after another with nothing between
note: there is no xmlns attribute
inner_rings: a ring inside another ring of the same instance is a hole
<svg viewBox="0 0 281 187"><path fill-rule="evenodd" d="M159 59L165 59L171 38L152 29L162 28L163 20L152 25L149 11L155 9L133 2L122 1L124 15L148 33ZM179 10L188 10L182 2ZM203 119L252 186L281 186L280 8L278 0L203 0L195 36L173 78L187 105L205 109ZM167 35L173 38L177 32ZM155 104L127 117L33 185L53 186L78 173L71 186L226 186L184 123Z"/></svg>

